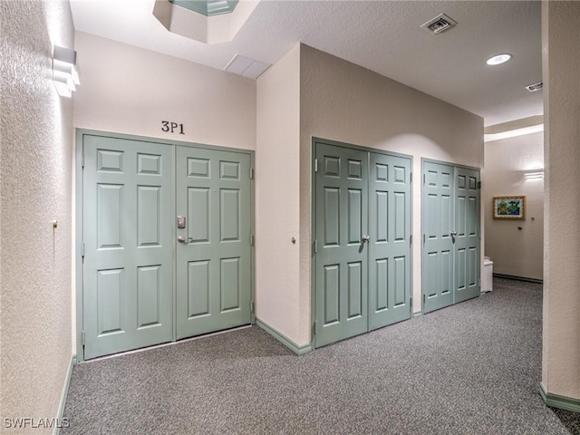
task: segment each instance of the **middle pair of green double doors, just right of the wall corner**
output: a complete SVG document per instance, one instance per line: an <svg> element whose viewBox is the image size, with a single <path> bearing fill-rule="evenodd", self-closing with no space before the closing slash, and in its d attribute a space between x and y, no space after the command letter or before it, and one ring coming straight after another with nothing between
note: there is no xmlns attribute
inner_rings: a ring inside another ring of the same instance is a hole
<svg viewBox="0 0 580 435"><path fill-rule="evenodd" d="M315 345L411 317L411 159L315 142Z"/></svg>

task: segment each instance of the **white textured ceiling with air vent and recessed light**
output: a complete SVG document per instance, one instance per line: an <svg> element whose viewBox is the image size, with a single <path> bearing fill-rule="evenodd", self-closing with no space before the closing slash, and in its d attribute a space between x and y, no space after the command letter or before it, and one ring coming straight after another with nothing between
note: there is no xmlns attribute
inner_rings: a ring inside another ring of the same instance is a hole
<svg viewBox="0 0 580 435"><path fill-rule="evenodd" d="M244 0L242 0L244 1ZM477 113L486 125L542 114L540 2L262 0L231 43L170 34L154 0L72 0L76 30L223 69L236 53L276 63L306 43ZM420 24L448 14L458 25ZM511 53L496 67L491 55Z"/></svg>

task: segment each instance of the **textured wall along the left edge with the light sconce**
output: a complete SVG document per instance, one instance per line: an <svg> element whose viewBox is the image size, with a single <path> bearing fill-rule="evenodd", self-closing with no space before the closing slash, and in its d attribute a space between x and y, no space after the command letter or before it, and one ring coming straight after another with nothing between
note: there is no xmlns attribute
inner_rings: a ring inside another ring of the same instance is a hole
<svg viewBox="0 0 580 435"><path fill-rule="evenodd" d="M73 104L52 82L68 2L0 2L0 418L57 415L71 360ZM53 230L52 221L58 220Z"/></svg>

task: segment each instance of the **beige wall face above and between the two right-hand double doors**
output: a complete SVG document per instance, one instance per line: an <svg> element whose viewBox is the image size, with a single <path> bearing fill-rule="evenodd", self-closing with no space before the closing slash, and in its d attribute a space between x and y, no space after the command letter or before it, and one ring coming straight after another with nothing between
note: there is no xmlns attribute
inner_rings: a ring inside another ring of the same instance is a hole
<svg viewBox="0 0 580 435"><path fill-rule="evenodd" d="M311 138L483 166L483 119L399 82L303 45L300 73L300 343L310 333ZM420 182L413 183L412 233L421 234ZM485 205L482 204L482 211ZM413 311L420 311L420 243L413 244Z"/></svg>

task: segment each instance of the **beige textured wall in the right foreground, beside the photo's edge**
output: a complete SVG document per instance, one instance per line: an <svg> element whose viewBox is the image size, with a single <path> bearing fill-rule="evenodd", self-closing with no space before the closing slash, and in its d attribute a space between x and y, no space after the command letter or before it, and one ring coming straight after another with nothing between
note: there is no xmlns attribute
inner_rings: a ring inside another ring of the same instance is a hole
<svg viewBox="0 0 580 435"><path fill-rule="evenodd" d="M546 198L542 382L580 400L580 2L542 2Z"/></svg>

